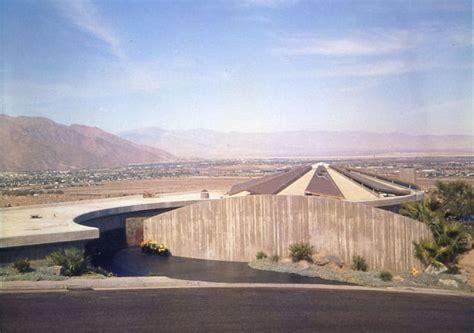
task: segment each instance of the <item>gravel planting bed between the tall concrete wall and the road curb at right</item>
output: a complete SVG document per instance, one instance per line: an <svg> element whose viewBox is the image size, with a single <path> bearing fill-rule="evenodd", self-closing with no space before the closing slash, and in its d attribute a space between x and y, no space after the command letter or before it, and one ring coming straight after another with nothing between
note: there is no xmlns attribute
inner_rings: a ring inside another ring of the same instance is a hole
<svg viewBox="0 0 474 333"><path fill-rule="evenodd" d="M304 268L305 265L299 265L298 263L272 262L269 259L260 259L252 261L249 263L249 266L254 269L294 273L303 276L319 277L327 280L342 281L370 287L416 287L463 290L470 292L474 291L473 287L465 283L465 279L462 276L452 274L433 275L420 273L417 276L413 276L411 272L403 272L397 274L392 273L392 281L385 282L380 279L380 272L376 271L362 272L353 271L350 269L336 270L327 268L325 266L317 266L312 264L309 264L308 268ZM454 280L455 283L453 283L452 286L446 286L440 280Z"/></svg>

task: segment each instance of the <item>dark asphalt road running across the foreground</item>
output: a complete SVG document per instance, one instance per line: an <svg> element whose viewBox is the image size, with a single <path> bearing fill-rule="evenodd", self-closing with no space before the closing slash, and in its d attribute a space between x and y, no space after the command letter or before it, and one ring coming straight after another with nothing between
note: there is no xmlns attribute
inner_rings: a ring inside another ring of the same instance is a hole
<svg viewBox="0 0 474 333"><path fill-rule="evenodd" d="M309 289L0 295L4 332L473 332L474 299Z"/></svg>

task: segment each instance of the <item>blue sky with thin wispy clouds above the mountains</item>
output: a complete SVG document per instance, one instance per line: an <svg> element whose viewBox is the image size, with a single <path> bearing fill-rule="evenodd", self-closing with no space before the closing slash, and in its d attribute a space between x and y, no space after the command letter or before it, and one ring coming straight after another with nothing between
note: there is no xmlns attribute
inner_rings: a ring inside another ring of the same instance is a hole
<svg viewBox="0 0 474 333"><path fill-rule="evenodd" d="M0 1L0 113L474 134L471 1Z"/></svg>

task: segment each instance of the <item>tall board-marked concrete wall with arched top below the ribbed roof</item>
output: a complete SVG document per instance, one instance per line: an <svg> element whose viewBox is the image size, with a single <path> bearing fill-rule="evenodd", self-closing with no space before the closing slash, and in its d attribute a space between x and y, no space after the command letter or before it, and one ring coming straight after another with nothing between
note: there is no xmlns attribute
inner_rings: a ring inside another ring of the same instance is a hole
<svg viewBox="0 0 474 333"><path fill-rule="evenodd" d="M173 255L250 261L263 250L288 255L307 241L316 251L351 262L366 258L371 269L421 268L413 241L431 237L415 220L363 204L308 196L245 196L183 207L144 221L144 238L165 242Z"/></svg>

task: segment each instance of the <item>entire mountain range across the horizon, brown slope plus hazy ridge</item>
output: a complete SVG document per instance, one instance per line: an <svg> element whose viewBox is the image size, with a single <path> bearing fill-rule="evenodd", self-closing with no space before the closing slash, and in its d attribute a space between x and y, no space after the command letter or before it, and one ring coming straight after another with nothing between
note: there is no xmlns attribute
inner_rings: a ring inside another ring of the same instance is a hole
<svg viewBox="0 0 474 333"><path fill-rule="evenodd" d="M472 135L380 134L355 131L274 133L164 130L108 133L47 118L0 115L0 171L109 168L180 158L360 156L474 153Z"/></svg>

